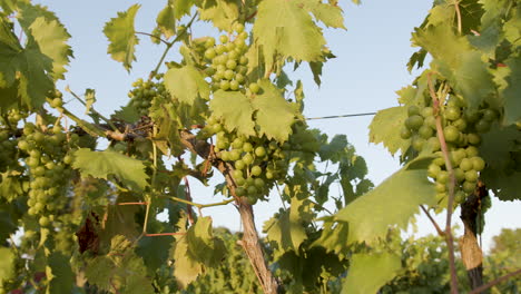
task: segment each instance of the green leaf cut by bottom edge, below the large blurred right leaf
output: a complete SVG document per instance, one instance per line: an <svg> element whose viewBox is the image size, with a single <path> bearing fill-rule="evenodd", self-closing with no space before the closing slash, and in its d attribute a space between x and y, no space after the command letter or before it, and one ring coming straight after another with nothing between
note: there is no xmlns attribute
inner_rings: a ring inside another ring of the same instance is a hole
<svg viewBox="0 0 521 294"><path fill-rule="evenodd" d="M342 294L377 293L402 267L400 256L389 253L355 254Z"/></svg>

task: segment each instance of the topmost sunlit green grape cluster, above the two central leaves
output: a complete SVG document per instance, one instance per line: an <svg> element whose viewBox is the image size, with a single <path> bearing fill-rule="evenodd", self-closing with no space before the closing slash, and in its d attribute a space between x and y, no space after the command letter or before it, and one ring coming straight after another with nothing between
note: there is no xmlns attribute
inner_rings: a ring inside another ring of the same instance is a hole
<svg viewBox="0 0 521 294"><path fill-rule="evenodd" d="M212 78L214 91L222 89L256 94L259 86L256 82L247 84L246 80L248 58L245 53L248 49L248 32L242 23L235 23L234 32L235 38L220 36L219 45L216 45L214 38L207 38L204 45L204 57L208 61L206 74Z"/></svg>

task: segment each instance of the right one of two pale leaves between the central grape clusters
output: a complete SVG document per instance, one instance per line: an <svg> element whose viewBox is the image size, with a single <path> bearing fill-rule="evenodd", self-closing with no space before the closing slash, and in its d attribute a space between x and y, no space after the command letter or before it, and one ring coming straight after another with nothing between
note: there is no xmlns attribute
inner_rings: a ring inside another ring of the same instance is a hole
<svg viewBox="0 0 521 294"><path fill-rule="evenodd" d="M260 135L284 143L292 134L295 109L269 80L260 80L258 85L262 92L253 98L253 107L257 110L256 122Z"/></svg>

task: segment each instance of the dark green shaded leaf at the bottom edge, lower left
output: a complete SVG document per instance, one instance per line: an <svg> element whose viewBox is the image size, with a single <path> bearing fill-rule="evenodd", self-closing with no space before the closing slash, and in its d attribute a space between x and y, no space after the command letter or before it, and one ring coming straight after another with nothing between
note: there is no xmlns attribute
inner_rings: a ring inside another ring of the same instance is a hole
<svg viewBox="0 0 521 294"><path fill-rule="evenodd" d="M71 293L76 276L70 267L70 258L59 252L53 252L48 258L46 267L47 278L50 280L49 293Z"/></svg>

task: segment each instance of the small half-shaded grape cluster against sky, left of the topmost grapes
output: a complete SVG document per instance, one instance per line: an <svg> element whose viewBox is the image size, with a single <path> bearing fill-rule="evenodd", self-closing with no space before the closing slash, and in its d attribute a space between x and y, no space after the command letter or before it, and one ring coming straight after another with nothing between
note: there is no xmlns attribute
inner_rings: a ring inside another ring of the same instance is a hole
<svg viewBox="0 0 521 294"><path fill-rule="evenodd" d="M132 84L134 89L128 92L130 98L130 106L135 107L137 112L141 116L148 114L148 108L150 108L153 99L156 96L167 97L167 90L165 84L159 81L163 79L163 74L155 76L156 81L147 80L139 78Z"/></svg>

